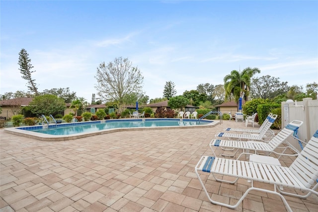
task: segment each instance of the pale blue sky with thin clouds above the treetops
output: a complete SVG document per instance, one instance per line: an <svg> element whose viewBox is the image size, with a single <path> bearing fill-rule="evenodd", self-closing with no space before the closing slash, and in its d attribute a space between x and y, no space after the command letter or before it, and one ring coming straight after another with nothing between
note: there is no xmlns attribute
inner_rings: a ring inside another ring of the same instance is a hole
<svg viewBox="0 0 318 212"><path fill-rule="evenodd" d="M318 82L318 1L0 1L0 93L27 91L24 48L39 91L91 101L96 68L128 58L150 99L259 68L289 86Z"/></svg>

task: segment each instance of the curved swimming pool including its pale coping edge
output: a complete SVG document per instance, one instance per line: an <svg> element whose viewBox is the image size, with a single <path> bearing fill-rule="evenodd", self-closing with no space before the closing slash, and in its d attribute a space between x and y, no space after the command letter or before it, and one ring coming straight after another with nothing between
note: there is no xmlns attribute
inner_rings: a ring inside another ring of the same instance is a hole
<svg viewBox="0 0 318 212"><path fill-rule="evenodd" d="M177 118L111 119L74 123L6 128L5 131L44 141L73 140L128 130L173 129L176 127L210 127L216 121Z"/></svg>

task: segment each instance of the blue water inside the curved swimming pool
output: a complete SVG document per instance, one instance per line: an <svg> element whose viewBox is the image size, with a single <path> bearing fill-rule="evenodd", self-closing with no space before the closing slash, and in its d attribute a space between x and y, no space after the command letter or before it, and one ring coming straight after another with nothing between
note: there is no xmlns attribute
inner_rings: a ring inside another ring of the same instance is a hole
<svg viewBox="0 0 318 212"><path fill-rule="evenodd" d="M132 127L160 127L160 126L194 126L211 123L210 120L196 119L113 119L89 122L75 122L66 124L51 124L48 129L42 125L19 127L19 129L39 132L50 135L72 135L78 133L89 133L105 129L132 128Z"/></svg>

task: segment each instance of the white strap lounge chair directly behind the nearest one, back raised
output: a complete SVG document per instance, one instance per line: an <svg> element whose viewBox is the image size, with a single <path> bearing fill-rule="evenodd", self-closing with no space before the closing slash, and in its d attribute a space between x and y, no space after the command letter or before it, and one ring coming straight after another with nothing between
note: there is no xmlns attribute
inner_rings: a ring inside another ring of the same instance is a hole
<svg viewBox="0 0 318 212"><path fill-rule="evenodd" d="M297 138L298 128L303 124L303 121L293 120L286 127L284 127L275 137L273 137L269 142L262 141L229 141L229 140L220 140L213 139L210 142L210 148L215 155L213 147L221 147L223 150L236 150L233 154L222 154L222 156L230 156L234 157L239 149L243 150L243 152L239 155L239 157L243 154L250 154L249 151L254 151L254 154L258 152L265 152L267 155L270 153L274 153L277 155L287 155L287 156L297 156L299 151L293 147L291 144L287 143L287 146L280 147L279 145L286 141L289 136L293 136ZM298 138L297 138L298 139ZM299 139L298 139L299 140ZM294 152L293 155L285 154L285 151L290 148ZM276 149L282 149L282 151L277 152ZM216 155L215 155L216 156ZM279 156L279 157L280 157ZM239 159L238 157L238 159Z"/></svg>

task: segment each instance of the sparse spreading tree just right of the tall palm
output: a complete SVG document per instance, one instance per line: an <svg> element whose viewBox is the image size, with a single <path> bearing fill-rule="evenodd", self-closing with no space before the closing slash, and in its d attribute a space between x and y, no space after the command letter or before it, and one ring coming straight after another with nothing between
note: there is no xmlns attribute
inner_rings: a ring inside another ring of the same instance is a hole
<svg viewBox="0 0 318 212"><path fill-rule="evenodd" d="M288 82L280 82L279 78L269 75L252 78L250 96L254 99L274 99L274 97L288 92Z"/></svg>

